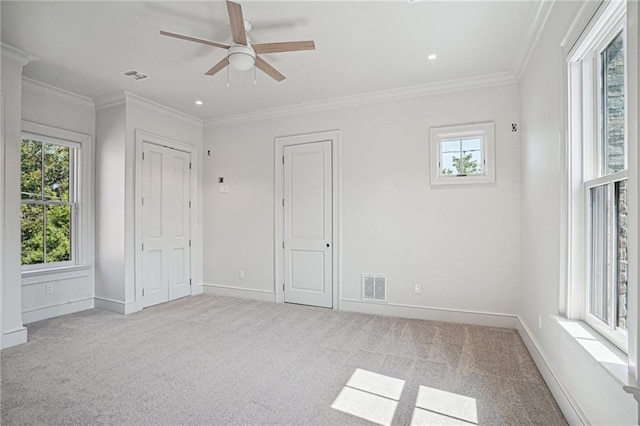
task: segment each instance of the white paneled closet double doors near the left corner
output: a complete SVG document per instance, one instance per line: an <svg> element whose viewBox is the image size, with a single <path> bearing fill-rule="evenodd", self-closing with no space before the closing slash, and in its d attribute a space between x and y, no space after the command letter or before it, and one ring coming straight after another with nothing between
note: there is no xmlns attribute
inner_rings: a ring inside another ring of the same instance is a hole
<svg viewBox="0 0 640 426"><path fill-rule="evenodd" d="M191 293L190 154L143 142L142 304Z"/></svg>

